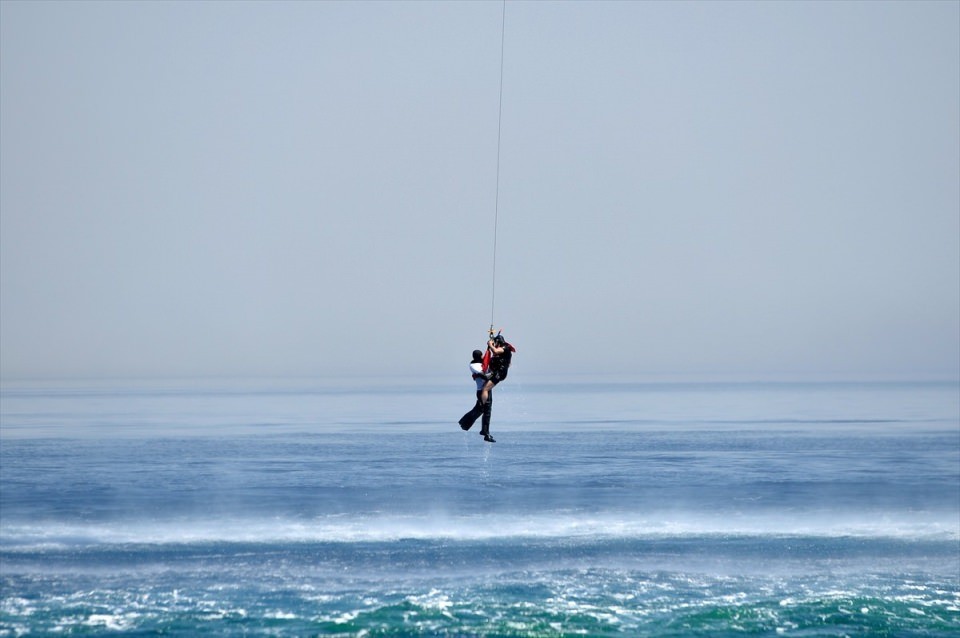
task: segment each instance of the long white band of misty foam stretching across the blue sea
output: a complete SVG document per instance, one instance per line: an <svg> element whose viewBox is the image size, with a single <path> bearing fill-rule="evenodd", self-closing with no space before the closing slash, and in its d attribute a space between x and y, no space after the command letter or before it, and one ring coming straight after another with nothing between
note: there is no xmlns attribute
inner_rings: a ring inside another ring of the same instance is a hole
<svg viewBox="0 0 960 638"><path fill-rule="evenodd" d="M5 524L0 547L8 550L88 544L203 544L334 542L371 543L399 540L483 542L504 538L589 541L699 536L821 537L958 540L955 513L927 516L754 514L749 516L676 516L554 512L521 516L352 515L313 520L197 520L132 523Z"/></svg>

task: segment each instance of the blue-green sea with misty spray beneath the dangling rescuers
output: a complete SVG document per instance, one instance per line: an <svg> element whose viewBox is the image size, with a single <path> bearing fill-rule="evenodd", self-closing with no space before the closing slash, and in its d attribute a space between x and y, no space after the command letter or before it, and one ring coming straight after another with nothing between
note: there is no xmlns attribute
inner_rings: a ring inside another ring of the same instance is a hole
<svg viewBox="0 0 960 638"><path fill-rule="evenodd" d="M957 383L520 376L7 384L0 636L960 635Z"/></svg>

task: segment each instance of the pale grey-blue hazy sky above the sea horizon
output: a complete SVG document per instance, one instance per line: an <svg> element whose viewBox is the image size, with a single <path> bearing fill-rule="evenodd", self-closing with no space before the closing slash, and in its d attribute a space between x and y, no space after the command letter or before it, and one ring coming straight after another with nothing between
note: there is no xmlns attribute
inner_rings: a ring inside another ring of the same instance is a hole
<svg viewBox="0 0 960 638"><path fill-rule="evenodd" d="M501 6L3 0L3 377L463 375ZM960 3L505 33L512 376L960 374Z"/></svg>

